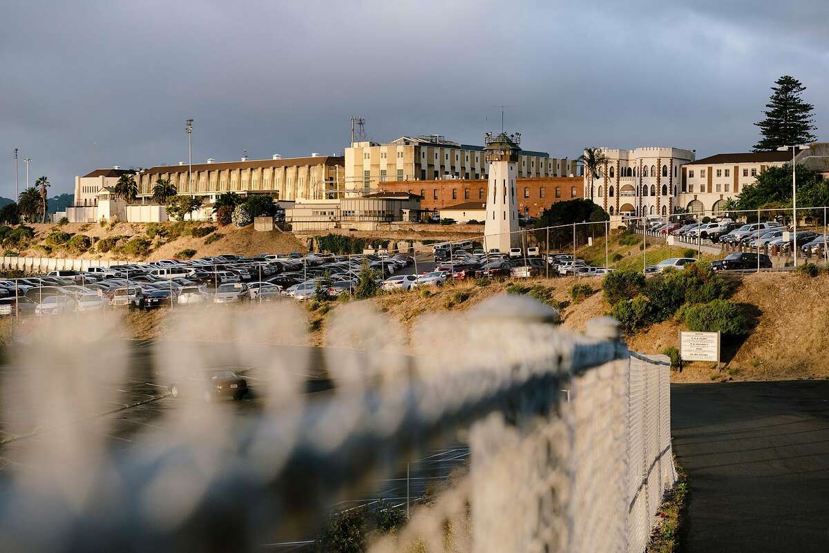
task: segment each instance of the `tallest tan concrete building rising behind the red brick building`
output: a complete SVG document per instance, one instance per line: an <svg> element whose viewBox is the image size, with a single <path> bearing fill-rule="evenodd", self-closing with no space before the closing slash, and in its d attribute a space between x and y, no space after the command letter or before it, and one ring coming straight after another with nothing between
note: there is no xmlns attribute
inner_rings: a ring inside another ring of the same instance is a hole
<svg viewBox="0 0 829 553"><path fill-rule="evenodd" d="M347 195L382 188L392 180L487 179L489 163L482 146L459 144L439 135L400 137L386 144L354 142L345 151ZM516 164L519 178L575 176L574 160L522 150Z"/></svg>

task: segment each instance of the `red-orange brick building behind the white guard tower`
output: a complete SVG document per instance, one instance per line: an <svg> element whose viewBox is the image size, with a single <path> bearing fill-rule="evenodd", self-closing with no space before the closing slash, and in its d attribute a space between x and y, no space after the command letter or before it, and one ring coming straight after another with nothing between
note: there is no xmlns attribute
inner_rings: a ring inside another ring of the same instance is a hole
<svg viewBox="0 0 829 553"><path fill-rule="evenodd" d="M518 209L521 214L538 217L555 202L584 197L584 179L580 176L548 176L518 179ZM392 180L380 183L387 192L410 192L423 196L420 208L444 209L464 202L486 202L486 179Z"/></svg>

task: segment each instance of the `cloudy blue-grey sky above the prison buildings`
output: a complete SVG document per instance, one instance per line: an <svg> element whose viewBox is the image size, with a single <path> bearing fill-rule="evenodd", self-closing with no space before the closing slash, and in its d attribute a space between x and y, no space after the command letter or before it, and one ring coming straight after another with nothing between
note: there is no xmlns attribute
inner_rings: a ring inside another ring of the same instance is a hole
<svg viewBox="0 0 829 553"><path fill-rule="evenodd" d="M682 5L680 5L682 4ZM0 195L12 149L56 193L97 167L342 153L439 133L527 149L672 145L747 151L768 88L807 85L829 139L826 0L3 4Z"/></svg>

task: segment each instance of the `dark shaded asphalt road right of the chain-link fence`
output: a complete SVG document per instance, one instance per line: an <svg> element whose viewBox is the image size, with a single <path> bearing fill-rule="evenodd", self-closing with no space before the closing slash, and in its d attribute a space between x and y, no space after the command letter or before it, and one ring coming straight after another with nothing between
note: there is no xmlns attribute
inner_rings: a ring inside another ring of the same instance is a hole
<svg viewBox="0 0 829 553"><path fill-rule="evenodd" d="M829 382L671 386L687 553L829 551Z"/></svg>

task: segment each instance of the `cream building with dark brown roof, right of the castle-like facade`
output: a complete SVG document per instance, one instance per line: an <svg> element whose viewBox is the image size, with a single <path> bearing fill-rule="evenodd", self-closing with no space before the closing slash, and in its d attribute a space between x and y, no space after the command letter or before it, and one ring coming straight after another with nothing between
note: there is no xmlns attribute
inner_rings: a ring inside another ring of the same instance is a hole
<svg viewBox="0 0 829 553"><path fill-rule="evenodd" d="M791 161L788 151L716 154L691 161L682 166L679 205L691 213L721 211L726 200L736 199L768 167Z"/></svg>

